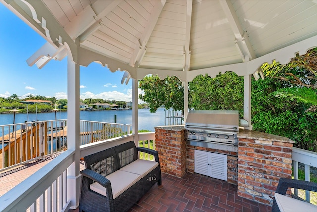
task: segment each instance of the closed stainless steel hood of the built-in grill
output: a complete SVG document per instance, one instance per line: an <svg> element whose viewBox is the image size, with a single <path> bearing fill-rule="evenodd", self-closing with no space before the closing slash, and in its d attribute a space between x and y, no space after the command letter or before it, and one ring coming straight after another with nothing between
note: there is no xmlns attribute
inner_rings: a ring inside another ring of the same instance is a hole
<svg viewBox="0 0 317 212"><path fill-rule="evenodd" d="M239 111L194 110L185 121L185 129L239 131Z"/></svg>

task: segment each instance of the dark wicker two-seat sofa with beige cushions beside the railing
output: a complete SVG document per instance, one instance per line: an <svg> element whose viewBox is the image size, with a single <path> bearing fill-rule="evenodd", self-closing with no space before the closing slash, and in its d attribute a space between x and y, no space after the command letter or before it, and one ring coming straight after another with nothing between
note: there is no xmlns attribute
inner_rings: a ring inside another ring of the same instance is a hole
<svg viewBox="0 0 317 212"><path fill-rule="evenodd" d="M155 161L138 159L138 151ZM161 185L159 153L133 141L84 157L79 211L125 212L155 183Z"/></svg>

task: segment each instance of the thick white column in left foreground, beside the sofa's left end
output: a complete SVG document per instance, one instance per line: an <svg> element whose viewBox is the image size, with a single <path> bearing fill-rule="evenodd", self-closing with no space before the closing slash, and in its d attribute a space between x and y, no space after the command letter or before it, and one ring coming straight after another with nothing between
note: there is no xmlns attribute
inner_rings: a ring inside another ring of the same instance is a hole
<svg viewBox="0 0 317 212"><path fill-rule="evenodd" d="M79 76L80 68L68 54L67 65L67 93L68 93L68 111L67 111L67 148L75 151L74 162L68 168L67 173L67 197L71 200L71 209L79 206L80 193L80 117L79 117Z"/></svg>

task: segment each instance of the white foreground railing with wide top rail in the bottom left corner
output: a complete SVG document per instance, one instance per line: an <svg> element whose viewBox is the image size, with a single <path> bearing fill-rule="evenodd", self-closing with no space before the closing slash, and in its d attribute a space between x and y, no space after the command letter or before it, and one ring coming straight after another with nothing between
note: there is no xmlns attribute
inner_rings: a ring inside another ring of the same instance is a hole
<svg viewBox="0 0 317 212"><path fill-rule="evenodd" d="M67 169L74 162L74 151L65 151L0 199L1 212L67 212Z"/></svg>

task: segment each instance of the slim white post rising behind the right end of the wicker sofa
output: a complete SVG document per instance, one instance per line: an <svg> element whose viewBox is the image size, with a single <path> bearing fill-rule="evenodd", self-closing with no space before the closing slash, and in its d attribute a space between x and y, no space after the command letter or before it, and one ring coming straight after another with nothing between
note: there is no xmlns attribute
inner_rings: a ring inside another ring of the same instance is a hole
<svg viewBox="0 0 317 212"><path fill-rule="evenodd" d="M138 80L132 79L132 134L135 146L138 146Z"/></svg>

